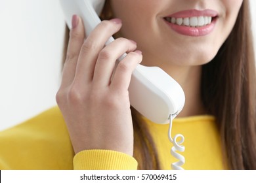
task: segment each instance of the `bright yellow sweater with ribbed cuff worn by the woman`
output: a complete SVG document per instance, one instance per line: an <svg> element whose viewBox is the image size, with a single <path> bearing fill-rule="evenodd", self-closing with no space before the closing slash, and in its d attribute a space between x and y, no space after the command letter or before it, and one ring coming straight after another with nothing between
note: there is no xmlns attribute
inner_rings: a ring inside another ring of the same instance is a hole
<svg viewBox="0 0 256 183"><path fill-rule="evenodd" d="M161 167L177 161L170 154L169 125L146 121L158 148ZM212 116L176 118L172 134L185 137L184 169L225 169L219 133ZM0 169L137 169L135 158L110 150L85 150L74 155L58 107L0 132Z"/></svg>

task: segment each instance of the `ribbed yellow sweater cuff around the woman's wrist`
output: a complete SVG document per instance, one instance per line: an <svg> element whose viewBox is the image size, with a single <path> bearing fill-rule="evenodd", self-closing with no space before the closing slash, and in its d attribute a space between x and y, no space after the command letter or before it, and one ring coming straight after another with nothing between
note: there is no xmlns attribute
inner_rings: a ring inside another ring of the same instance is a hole
<svg viewBox="0 0 256 183"><path fill-rule="evenodd" d="M74 157L75 170L137 170L135 158L113 150L83 150Z"/></svg>

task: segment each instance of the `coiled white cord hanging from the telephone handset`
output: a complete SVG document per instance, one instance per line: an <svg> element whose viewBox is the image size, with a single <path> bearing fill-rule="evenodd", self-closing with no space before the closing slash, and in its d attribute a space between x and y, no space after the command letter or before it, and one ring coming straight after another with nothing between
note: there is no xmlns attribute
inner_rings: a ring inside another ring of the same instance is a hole
<svg viewBox="0 0 256 183"><path fill-rule="evenodd" d="M171 163L171 168L173 170L183 170L183 168L181 166L184 165L185 158L181 154L177 153L177 151L184 152L185 147L182 146L181 144L184 142L185 138L181 134L175 135L174 138L171 137L171 128L173 126L173 118L175 118L175 116L177 116L177 114L173 114L173 115L170 114L170 116L169 116L168 137L169 137L169 141L173 144L173 147L171 148L171 155L173 157L177 158L179 161L177 161L175 163ZM181 140L177 141L178 138L180 138Z"/></svg>

